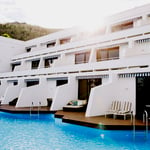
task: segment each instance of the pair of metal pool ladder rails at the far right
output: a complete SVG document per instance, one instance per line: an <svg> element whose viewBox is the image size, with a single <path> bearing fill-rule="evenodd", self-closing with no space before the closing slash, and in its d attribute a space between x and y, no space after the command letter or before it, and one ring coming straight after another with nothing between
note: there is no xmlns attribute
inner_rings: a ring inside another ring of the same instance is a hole
<svg viewBox="0 0 150 150"><path fill-rule="evenodd" d="M145 110L143 112L143 123L145 123L145 138L147 139L148 138L148 113L147 111ZM133 115L133 139L135 139L135 135L136 135L136 129L135 129L135 115Z"/></svg>

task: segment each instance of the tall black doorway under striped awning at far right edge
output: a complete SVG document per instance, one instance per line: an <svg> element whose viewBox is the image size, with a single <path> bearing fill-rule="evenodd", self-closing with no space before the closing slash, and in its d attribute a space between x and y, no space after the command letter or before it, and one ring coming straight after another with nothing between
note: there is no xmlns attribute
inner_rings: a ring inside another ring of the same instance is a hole
<svg viewBox="0 0 150 150"><path fill-rule="evenodd" d="M150 105L150 77L136 77L136 116L142 119L145 105Z"/></svg>

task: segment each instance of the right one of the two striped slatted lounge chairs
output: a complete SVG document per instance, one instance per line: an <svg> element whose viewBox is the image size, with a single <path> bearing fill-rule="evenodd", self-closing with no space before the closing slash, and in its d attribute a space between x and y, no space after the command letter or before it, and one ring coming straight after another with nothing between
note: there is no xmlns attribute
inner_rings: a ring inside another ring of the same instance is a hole
<svg viewBox="0 0 150 150"><path fill-rule="evenodd" d="M122 108L120 111L115 112L114 115L114 119L116 119L117 116L124 116L124 120L126 120L127 116L130 116L131 121L132 121L132 103L129 101L125 101L122 105Z"/></svg>

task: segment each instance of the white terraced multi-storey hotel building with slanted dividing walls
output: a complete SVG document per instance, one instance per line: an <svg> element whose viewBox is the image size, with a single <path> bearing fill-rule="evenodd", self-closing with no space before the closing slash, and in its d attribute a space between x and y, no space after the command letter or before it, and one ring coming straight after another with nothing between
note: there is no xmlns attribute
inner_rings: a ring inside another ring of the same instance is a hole
<svg viewBox="0 0 150 150"><path fill-rule="evenodd" d="M108 18L94 34L67 29L29 41L0 37L1 104L61 110L88 101L85 116L104 115L113 100L150 104L150 5Z"/></svg>

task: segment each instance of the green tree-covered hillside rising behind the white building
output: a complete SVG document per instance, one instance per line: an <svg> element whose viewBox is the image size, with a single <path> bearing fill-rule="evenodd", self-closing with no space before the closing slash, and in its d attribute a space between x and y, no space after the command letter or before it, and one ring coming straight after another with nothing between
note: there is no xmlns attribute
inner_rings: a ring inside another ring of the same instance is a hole
<svg viewBox="0 0 150 150"><path fill-rule="evenodd" d="M23 41L44 36L58 30L60 29L47 29L18 22L0 24L0 36L10 37Z"/></svg>

